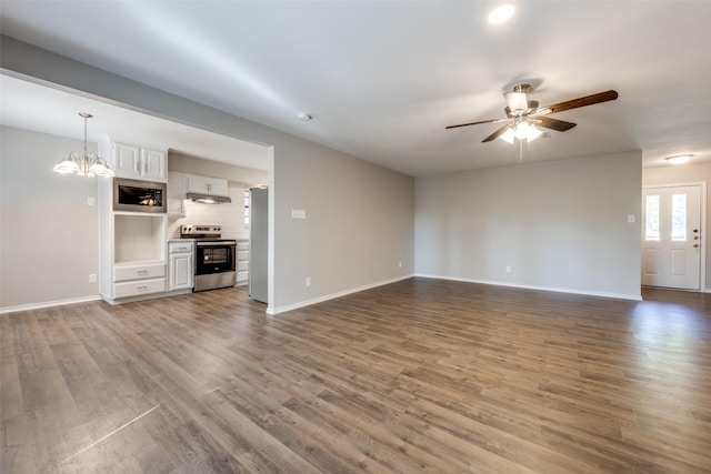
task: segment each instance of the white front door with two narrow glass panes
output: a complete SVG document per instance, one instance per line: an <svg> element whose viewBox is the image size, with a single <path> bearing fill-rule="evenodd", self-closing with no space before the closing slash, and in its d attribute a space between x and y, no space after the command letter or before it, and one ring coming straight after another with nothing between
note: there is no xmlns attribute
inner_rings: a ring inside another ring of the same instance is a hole
<svg viewBox="0 0 711 474"><path fill-rule="evenodd" d="M699 290L701 186L647 188L642 205L642 284Z"/></svg>

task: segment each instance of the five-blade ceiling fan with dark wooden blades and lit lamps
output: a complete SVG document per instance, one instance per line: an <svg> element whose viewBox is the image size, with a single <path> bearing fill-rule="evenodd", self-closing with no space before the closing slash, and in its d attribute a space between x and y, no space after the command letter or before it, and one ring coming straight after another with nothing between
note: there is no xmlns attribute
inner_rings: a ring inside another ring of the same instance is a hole
<svg viewBox="0 0 711 474"><path fill-rule="evenodd" d="M518 84L513 87L512 92L503 94L507 100L507 107L503 111L507 114L505 119L491 119L481 120L479 122L461 123L459 125L445 127L449 129L457 129L460 127L479 125L482 123L499 123L510 122L498 129L495 132L483 139L481 142L485 143L498 138L513 143L514 139L519 140L535 140L543 131L539 127L558 132L564 132L575 127L575 123L565 122L564 120L551 119L550 114L563 112L570 109L577 109L579 107L593 105L595 103L608 102L618 98L618 92L613 90L599 92L592 95L585 95L578 99L568 100L565 102L555 103L553 105L539 107L537 100L529 100L527 94L531 92L530 84Z"/></svg>

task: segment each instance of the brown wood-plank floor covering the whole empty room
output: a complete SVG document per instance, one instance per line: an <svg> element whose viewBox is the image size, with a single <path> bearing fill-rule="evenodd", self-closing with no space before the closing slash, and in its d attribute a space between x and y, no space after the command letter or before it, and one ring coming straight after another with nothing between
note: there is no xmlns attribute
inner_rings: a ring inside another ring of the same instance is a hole
<svg viewBox="0 0 711 474"><path fill-rule="evenodd" d="M0 315L0 471L711 472L711 295L411 279Z"/></svg>

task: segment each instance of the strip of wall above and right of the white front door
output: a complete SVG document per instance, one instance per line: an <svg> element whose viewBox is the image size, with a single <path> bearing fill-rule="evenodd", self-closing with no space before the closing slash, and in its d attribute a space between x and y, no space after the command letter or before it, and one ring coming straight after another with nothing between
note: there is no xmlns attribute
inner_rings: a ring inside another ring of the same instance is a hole
<svg viewBox="0 0 711 474"><path fill-rule="evenodd" d="M685 183L708 183L711 181L711 163L687 163L677 167L659 167L659 168L645 168L642 170L642 185L672 185L672 184L685 184ZM711 222L711 192L707 189L707 223ZM711 279L709 279L709 271L711 270L711 252L709 252L709 230L705 229L705 233L701 235L702 245L707 249L705 261L705 290L711 290Z"/></svg>

